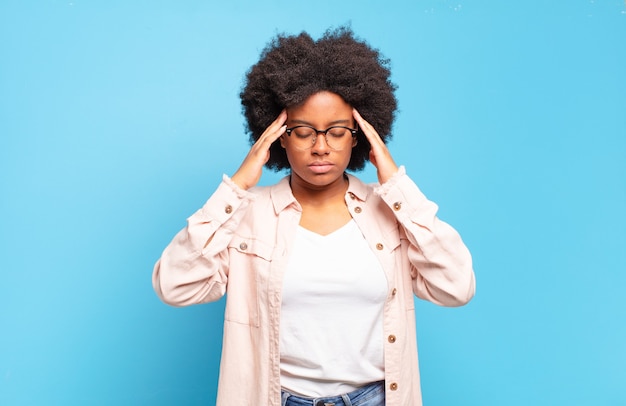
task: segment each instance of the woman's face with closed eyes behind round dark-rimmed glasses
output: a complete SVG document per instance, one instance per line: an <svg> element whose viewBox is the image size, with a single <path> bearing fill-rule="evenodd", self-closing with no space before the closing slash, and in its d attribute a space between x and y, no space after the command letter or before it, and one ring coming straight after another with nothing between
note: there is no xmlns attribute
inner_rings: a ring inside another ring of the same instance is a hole
<svg viewBox="0 0 626 406"><path fill-rule="evenodd" d="M352 106L339 95L331 92L319 92L310 96L294 107L287 108L287 128L307 125L318 130L332 126L354 128ZM348 167L352 148L356 138L347 133L341 141L332 140L330 132L327 136L318 134L315 143L309 149L299 148L294 141L297 135L283 134L280 143L287 153L291 166L291 180L303 186L323 188L343 182L343 173ZM331 139L331 148L326 139Z"/></svg>

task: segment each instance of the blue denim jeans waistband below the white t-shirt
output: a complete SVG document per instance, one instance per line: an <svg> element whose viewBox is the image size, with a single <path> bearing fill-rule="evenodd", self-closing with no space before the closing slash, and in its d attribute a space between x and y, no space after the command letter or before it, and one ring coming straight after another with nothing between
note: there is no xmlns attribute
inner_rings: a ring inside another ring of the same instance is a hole
<svg viewBox="0 0 626 406"><path fill-rule="evenodd" d="M385 381L326 398L305 398L283 390L282 406L385 406Z"/></svg>

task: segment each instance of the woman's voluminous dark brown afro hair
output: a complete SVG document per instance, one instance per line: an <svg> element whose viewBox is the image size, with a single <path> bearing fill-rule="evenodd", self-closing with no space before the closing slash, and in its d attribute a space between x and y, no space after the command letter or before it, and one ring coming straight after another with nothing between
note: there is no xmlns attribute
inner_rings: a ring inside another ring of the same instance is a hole
<svg viewBox="0 0 626 406"><path fill-rule="evenodd" d="M387 142L397 107L390 75L389 60L355 38L350 28L328 30L317 41L305 32L278 35L247 72L240 94L250 142L256 142L284 108L321 91L341 96ZM370 151L361 130L357 140L348 164L352 171L363 169ZM270 147L265 166L275 171L289 169L279 143Z"/></svg>

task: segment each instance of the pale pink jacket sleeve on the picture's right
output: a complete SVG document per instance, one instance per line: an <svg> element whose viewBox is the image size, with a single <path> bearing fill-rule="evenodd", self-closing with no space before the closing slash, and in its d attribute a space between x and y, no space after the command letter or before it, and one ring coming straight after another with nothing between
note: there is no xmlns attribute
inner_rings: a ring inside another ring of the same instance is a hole
<svg viewBox="0 0 626 406"><path fill-rule="evenodd" d="M437 218L438 207L400 167L375 192L401 224L409 241L413 292L442 306L462 306L474 296L472 257L457 231Z"/></svg>

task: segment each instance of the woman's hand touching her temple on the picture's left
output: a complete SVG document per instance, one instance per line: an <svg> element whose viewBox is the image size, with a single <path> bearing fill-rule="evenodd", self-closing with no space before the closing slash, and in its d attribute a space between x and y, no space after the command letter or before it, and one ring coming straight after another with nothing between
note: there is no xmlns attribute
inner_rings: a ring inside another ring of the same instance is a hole
<svg viewBox="0 0 626 406"><path fill-rule="evenodd" d="M263 165L270 159L270 146L285 133L286 121L287 111L283 110L254 143L237 172L231 176L231 180L237 186L243 190L248 190L259 182L263 173Z"/></svg>

